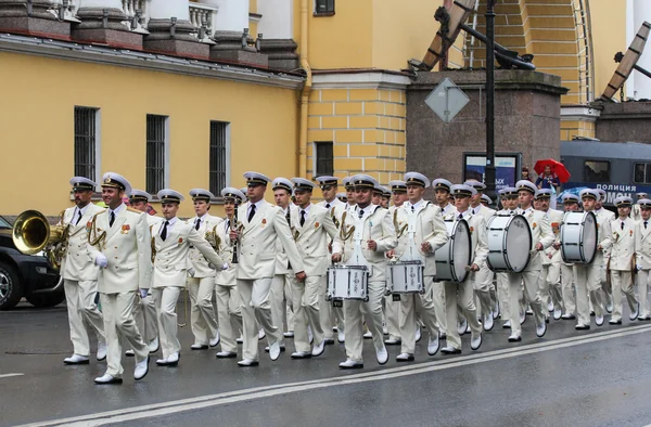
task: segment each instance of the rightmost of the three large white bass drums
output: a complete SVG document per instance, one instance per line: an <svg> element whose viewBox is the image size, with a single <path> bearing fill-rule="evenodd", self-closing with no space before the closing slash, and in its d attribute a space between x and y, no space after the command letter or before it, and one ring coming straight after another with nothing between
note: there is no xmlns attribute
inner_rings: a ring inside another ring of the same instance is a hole
<svg viewBox="0 0 651 427"><path fill-rule="evenodd" d="M588 264L597 255L597 218L593 212L565 212L561 227L563 262Z"/></svg>

